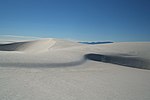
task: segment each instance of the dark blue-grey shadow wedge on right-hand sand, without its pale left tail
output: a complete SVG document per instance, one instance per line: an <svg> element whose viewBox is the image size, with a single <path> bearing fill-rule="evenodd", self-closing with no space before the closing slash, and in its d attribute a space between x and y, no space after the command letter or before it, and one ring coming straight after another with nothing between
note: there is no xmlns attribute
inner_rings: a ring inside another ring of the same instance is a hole
<svg viewBox="0 0 150 100"><path fill-rule="evenodd" d="M133 56L124 56L124 55L102 55L102 54L86 54L86 59L98 61L98 62L104 62L104 63L111 63L111 64L117 64L132 68L140 68L140 69L149 69L150 70L150 62Z"/></svg>

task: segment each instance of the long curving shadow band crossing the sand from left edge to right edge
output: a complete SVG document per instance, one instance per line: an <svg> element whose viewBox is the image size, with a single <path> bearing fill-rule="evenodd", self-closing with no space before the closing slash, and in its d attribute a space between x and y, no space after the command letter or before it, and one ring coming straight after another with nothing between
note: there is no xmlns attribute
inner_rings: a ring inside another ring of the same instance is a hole
<svg viewBox="0 0 150 100"><path fill-rule="evenodd" d="M3 67L25 67L25 68L60 68L72 67L84 64L87 60L111 63L132 68L148 69L150 70L150 62L131 55L102 55L102 54L86 54L83 58L64 63L39 63L39 62L0 62Z"/></svg>

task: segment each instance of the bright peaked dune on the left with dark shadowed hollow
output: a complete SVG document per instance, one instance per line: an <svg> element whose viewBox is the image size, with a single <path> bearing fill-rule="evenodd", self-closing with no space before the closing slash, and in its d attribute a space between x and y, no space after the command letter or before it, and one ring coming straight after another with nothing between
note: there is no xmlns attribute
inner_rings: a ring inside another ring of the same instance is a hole
<svg viewBox="0 0 150 100"><path fill-rule="evenodd" d="M55 41L53 39L14 42L9 44L0 44L0 51L41 52L47 51L54 44Z"/></svg>

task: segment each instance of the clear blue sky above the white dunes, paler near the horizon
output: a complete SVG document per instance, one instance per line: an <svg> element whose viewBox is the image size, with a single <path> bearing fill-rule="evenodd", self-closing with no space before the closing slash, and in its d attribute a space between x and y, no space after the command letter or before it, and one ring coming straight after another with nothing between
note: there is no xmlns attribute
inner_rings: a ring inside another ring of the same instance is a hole
<svg viewBox="0 0 150 100"><path fill-rule="evenodd" d="M0 35L150 41L150 0L0 0Z"/></svg>

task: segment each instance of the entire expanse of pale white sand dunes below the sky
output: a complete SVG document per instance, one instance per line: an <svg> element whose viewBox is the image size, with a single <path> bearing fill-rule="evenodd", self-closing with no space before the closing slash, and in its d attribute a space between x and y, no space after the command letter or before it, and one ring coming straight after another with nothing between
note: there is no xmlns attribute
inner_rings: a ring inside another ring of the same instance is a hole
<svg viewBox="0 0 150 100"><path fill-rule="evenodd" d="M150 100L150 43L0 44L0 100Z"/></svg>

